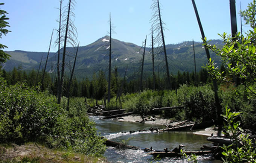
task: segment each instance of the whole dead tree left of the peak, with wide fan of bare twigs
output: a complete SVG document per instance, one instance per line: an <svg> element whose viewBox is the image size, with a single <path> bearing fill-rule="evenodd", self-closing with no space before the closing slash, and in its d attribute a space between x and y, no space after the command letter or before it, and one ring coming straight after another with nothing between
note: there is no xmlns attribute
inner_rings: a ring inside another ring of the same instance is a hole
<svg viewBox="0 0 256 163"><path fill-rule="evenodd" d="M69 43L71 46L75 47L76 44L76 27L73 24L72 18L75 18L75 14L72 12L74 10L75 6L75 0L69 0L68 5L66 6L66 10L64 12L64 15L62 17L62 20L65 22L62 24L62 27L60 29L60 32L64 33L64 46L63 46L63 54L62 54L62 65L61 65L61 76L60 76L60 82L58 86L58 104L61 103L61 93L62 93L62 84L64 79L64 68L65 68L65 57L66 57L66 47L67 43ZM60 41L62 41L62 39Z"/></svg>

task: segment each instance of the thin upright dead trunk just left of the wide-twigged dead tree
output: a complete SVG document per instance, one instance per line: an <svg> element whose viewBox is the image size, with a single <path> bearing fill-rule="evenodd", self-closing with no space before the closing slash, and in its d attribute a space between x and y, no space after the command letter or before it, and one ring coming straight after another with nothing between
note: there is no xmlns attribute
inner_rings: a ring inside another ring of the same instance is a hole
<svg viewBox="0 0 256 163"><path fill-rule="evenodd" d="M62 10L62 0L59 1L60 8L59 8L59 30L58 30L58 60L57 60L57 94L60 86L60 72L59 72L59 55L60 55L60 49L61 49L61 10Z"/></svg>

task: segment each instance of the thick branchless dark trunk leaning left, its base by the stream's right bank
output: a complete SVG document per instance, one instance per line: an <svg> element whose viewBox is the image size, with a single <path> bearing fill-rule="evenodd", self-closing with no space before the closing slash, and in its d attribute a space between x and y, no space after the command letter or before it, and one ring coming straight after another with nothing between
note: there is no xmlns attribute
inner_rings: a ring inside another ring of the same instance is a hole
<svg viewBox="0 0 256 163"><path fill-rule="evenodd" d="M198 22L198 25L199 25L199 28L200 28L200 31L201 31L201 35L202 35L202 38L204 39L205 38L204 30L203 30L203 26L201 24L200 17L199 17L198 11L197 11L197 6L195 5L195 0L192 0L192 3L193 3L193 6L194 6L194 10L195 10L195 14L196 14L196 17L197 17L197 22ZM209 49L206 47L206 45L204 45L204 49L206 51L206 56L207 56L207 59L208 59L208 62L209 62L210 61ZM218 136L220 136L221 135L221 130L222 130L221 104L219 102L218 86L217 86L216 79L212 79L212 81L213 81L213 89L214 89L214 95L215 95L215 104L216 104L217 114L218 114L218 122L217 122L217 124L219 125Z"/></svg>

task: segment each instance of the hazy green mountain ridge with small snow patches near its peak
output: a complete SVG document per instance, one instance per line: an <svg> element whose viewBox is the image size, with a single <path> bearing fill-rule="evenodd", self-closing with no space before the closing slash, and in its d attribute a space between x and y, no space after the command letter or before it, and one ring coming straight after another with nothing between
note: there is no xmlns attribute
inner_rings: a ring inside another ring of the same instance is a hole
<svg viewBox="0 0 256 163"><path fill-rule="evenodd" d="M223 46L221 40L212 40L209 44L216 44L218 47ZM119 75L123 75L125 72L125 67L128 65L128 76L134 75L140 71L140 60L142 58L141 46L133 43L126 43L112 38L112 68L116 66ZM93 73L103 70L107 72L108 67L108 53L109 53L109 36L104 36L99 38L87 46L79 47L78 58L76 61L75 76L78 79L91 78ZM145 75L149 75L152 72L152 59L151 59L151 48L146 48L145 53L145 65L144 72ZM167 44L166 45L169 71L170 73L176 74L180 72L192 72L194 70L194 55L192 41L184 41L178 44ZM73 47L67 47L67 51L74 53ZM43 62L47 56L47 52L27 52L23 50L6 51L12 57L7 61L3 68L6 71L11 71L14 67L21 65L24 70L38 69L41 57L43 56ZM197 62L197 71L201 69L203 64L207 63L204 47L202 43L195 42L195 54ZM213 52L210 53L213 60L220 63L219 56L216 56ZM165 73L162 69L164 66L161 59L161 54L158 54L155 58L156 70ZM67 63L73 62L73 57L67 57ZM50 72L51 65L53 65L54 70L56 70L57 63L57 53L49 54L49 63L47 64L47 71ZM43 64L44 65L44 64ZM68 70L68 69L67 69ZM156 71L155 70L155 71Z"/></svg>

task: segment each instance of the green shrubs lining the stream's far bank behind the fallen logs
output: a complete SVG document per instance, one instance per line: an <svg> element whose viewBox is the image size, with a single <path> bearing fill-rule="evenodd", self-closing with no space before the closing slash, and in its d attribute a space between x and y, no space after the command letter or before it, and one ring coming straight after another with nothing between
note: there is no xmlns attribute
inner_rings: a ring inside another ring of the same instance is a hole
<svg viewBox="0 0 256 163"><path fill-rule="evenodd" d="M256 89L256 85L251 87ZM223 114L226 106L231 111L241 111L242 125L248 128L256 127L255 94L248 91L243 85L239 87L221 86L219 99ZM107 110L119 109L120 106L127 111L134 111L142 117L151 114L153 108L184 106L184 109L165 110L160 114L165 118L189 119L197 122L216 120L217 118L214 92L209 84L198 87L184 84L178 88L177 94L171 90L145 90L140 93L126 94L121 97L121 105L119 100L116 101L116 97L114 97L107 104Z"/></svg>

